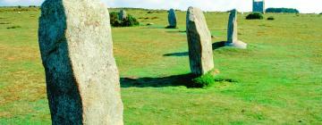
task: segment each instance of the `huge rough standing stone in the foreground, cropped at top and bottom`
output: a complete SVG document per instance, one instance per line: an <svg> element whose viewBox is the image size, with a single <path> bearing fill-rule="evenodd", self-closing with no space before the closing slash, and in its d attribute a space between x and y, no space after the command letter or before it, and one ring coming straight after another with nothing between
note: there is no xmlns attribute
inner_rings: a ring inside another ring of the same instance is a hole
<svg viewBox="0 0 322 125"><path fill-rule="evenodd" d="M122 125L106 6L99 0L46 0L38 39L52 124Z"/></svg>

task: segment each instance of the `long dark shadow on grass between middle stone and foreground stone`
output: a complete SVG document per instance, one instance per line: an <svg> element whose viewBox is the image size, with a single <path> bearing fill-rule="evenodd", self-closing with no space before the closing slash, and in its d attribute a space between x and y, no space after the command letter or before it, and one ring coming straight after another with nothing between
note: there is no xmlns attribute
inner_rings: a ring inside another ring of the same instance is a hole
<svg viewBox="0 0 322 125"><path fill-rule="evenodd" d="M182 74L162 78L121 78L121 87L191 87L194 75Z"/></svg>

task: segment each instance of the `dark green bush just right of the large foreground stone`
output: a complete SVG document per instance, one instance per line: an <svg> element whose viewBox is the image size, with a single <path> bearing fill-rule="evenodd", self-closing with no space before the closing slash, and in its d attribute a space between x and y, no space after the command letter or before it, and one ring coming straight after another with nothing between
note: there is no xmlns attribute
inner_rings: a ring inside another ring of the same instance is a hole
<svg viewBox="0 0 322 125"><path fill-rule="evenodd" d="M118 16L118 12L110 12L110 22L113 27L132 27L140 25L140 22L130 14L128 14L123 21L120 21Z"/></svg>

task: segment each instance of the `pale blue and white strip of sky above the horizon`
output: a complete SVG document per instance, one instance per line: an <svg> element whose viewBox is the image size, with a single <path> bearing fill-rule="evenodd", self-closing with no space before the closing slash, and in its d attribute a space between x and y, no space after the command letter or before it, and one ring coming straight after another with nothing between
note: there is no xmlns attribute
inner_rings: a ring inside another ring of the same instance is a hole
<svg viewBox="0 0 322 125"><path fill-rule="evenodd" d="M0 0L4 5L40 5L44 0ZM237 8L251 11L252 0L102 0L109 7L138 7L149 9L180 9L196 6L204 11L227 11ZM296 8L300 12L322 12L322 0L266 0L267 7Z"/></svg>

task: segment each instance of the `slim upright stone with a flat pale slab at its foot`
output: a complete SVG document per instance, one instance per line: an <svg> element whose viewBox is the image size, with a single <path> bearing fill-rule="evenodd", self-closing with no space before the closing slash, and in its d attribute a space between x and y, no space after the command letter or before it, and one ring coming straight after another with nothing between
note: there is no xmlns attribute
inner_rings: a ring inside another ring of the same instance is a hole
<svg viewBox="0 0 322 125"><path fill-rule="evenodd" d="M233 46L237 48L247 48L247 44L238 40L237 32L237 11L231 11L228 21L227 43L225 46Z"/></svg>

